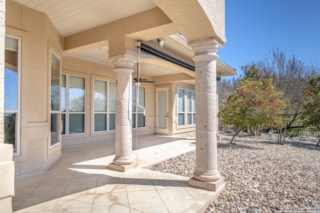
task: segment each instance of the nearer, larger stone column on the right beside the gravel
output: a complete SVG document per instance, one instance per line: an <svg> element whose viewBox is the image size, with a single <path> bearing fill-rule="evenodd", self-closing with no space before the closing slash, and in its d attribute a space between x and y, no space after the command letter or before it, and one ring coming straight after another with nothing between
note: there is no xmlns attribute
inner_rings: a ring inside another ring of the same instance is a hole
<svg viewBox="0 0 320 213"><path fill-rule="evenodd" d="M217 170L216 60L218 43L213 38L188 44L195 62L196 168L189 185L211 191L223 190L224 178Z"/></svg>

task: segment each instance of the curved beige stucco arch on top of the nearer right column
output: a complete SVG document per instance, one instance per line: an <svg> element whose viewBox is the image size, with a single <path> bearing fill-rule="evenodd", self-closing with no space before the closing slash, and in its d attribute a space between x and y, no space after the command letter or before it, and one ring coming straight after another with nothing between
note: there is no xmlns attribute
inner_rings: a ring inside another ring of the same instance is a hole
<svg viewBox="0 0 320 213"><path fill-rule="evenodd" d="M153 0L188 41L214 37L225 43L224 0ZM183 14L183 15L182 15ZM196 15L189 15L196 14Z"/></svg>

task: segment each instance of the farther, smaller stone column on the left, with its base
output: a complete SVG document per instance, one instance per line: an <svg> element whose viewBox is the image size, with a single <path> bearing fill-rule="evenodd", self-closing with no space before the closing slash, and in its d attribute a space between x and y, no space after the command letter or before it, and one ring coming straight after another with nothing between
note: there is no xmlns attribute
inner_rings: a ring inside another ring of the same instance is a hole
<svg viewBox="0 0 320 213"><path fill-rule="evenodd" d="M109 164L109 169L125 172L133 165L131 90L134 61L125 58L115 59L113 64L115 66L115 157L113 163Z"/></svg>

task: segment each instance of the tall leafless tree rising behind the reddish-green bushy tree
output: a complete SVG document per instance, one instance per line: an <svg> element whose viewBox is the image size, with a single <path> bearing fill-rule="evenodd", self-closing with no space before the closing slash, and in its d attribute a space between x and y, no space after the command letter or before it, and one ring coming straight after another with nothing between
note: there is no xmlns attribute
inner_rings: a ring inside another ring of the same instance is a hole
<svg viewBox="0 0 320 213"><path fill-rule="evenodd" d="M295 55L287 57L285 51L277 48L272 48L263 59L248 63L241 68L245 77L249 76L253 80L272 77L276 91L283 92L282 98L289 101L290 108L285 114L292 116L288 126L300 113L302 106L299 99L302 89L307 85L308 76L312 70L319 70L317 64L305 63Z"/></svg>

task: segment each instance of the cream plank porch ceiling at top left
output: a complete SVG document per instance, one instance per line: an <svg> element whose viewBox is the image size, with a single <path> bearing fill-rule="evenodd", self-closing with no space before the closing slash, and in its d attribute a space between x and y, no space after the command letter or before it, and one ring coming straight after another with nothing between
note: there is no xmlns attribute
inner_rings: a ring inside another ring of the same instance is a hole
<svg viewBox="0 0 320 213"><path fill-rule="evenodd" d="M152 0L12 0L48 15L62 37L156 7Z"/></svg>

